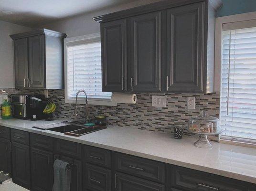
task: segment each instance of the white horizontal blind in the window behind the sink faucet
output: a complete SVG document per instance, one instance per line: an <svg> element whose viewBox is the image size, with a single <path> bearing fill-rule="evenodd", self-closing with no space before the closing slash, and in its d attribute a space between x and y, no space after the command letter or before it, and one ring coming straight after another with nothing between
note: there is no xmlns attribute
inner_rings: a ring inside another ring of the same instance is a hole
<svg viewBox="0 0 256 191"><path fill-rule="evenodd" d="M67 47L67 88L68 98L85 89L89 98L111 99L111 93L101 89L100 42Z"/></svg>

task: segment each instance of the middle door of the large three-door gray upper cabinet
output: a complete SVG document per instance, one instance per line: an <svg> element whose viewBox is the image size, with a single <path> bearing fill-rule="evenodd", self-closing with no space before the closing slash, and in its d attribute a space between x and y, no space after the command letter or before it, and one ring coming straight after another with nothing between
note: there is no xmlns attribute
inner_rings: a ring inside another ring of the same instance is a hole
<svg viewBox="0 0 256 191"><path fill-rule="evenodd" d="M133 92L161 90L161 14L152 12L129 19L128 87Z"/></svg>

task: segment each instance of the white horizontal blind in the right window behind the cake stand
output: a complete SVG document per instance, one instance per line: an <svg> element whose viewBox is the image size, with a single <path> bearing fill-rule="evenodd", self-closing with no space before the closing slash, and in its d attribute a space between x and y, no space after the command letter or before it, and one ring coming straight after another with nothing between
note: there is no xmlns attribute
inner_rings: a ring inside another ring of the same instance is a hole
<svg viewBox="0 0 256 191"><path fill-rule="evenodd" d="M222 138L256 141L256 27L223 32Z"/></svg>

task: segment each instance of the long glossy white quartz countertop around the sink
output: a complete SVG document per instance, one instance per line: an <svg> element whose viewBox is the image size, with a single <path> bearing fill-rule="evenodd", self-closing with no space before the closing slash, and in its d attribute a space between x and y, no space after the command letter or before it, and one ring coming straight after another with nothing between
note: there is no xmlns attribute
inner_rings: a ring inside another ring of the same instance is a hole
<svg viewBox="0 0 256 191"><path fill-rule="evenodd" d="M0 119L0 125L256 184L256 149L253 148L212 142L212 149L201 149L193 145L195 138L184 137L178 140L170 134L130 127L107 127L80 137L32 128L58 121L64 119L48 122Z"/></svg>

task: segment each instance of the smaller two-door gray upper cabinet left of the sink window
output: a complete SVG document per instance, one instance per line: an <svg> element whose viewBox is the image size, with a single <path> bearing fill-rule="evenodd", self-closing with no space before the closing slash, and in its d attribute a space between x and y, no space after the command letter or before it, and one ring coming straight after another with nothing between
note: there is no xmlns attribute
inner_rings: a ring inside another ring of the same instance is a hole
<svg viewBox="0 0 256 191"><path fill-rule="evenodd" d="M63 39L47 29L10 35L14 40L15 87L63 89Z"/></svg>

